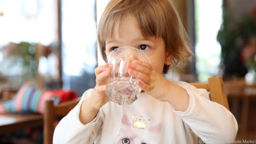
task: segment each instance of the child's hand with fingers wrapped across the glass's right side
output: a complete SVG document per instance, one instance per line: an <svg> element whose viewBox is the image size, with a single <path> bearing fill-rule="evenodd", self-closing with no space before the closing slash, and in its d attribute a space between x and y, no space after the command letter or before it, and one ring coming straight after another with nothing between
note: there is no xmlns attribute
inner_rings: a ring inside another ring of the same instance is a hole
<svg viewBox="0 0 256 144"><path fill-rule="evenodd" d="M152 66L145 61L133 61L128 63L128 73L139 79L136 83L139 87L155 99L167 101L166 93L170 82L160 73L153 70ZM143 81L143 82L141 82Z"/></svg>

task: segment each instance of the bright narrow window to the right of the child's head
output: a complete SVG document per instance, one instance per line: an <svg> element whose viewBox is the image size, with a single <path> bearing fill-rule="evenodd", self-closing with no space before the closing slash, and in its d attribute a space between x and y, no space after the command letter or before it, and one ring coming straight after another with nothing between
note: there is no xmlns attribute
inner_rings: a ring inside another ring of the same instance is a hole
<svg viewBox="0 0 256 144"><path fill-rule="evenodd" d="M221 46L217 33L222 24L222 0L195 0L195 18L198 80L206 82L210 76L221 72Z"/></svg>

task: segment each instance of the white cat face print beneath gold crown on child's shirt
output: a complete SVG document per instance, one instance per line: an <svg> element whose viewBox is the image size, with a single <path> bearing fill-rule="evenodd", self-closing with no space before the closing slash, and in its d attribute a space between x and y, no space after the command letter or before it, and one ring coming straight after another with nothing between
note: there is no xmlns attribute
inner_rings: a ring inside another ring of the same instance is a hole
<svg viewBox="0 0 256 144"><path fill-rule="evenodd" d="M114 144L158 144L161 124L149 122L145 129L133 127L133 120L122 116L121 129L115 137Z"/></svg>

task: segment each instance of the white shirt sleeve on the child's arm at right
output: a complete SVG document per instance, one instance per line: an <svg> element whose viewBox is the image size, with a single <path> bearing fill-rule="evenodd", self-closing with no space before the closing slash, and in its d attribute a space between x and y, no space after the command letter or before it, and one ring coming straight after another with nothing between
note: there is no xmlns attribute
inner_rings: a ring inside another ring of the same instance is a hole
<svg viewBox="0 0 256 144"><path fill-rule="evenodd" d="M187 90L190 103L185 112L173 111L182 117L192 131L205 143L231 143L236 138L238 125L226 107L209 100L209 93L188 83L180 84Z"/></svg>

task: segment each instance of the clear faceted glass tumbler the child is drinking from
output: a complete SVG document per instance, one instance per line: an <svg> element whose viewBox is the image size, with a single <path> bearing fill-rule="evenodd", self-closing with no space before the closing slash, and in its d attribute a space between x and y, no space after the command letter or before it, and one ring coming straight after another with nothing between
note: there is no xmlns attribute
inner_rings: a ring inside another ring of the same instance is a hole
<svg viewBox="0 0 256 144"><path fill-rule="evenodd" d="M148 57L141 50L133 47L119 47L108 55L111 74L107 78L106 95L110 101L119 105L128 105L140 94L141 88L136 83L138 79L128 74L127 63L134 60L149 63Z"/></svg>

